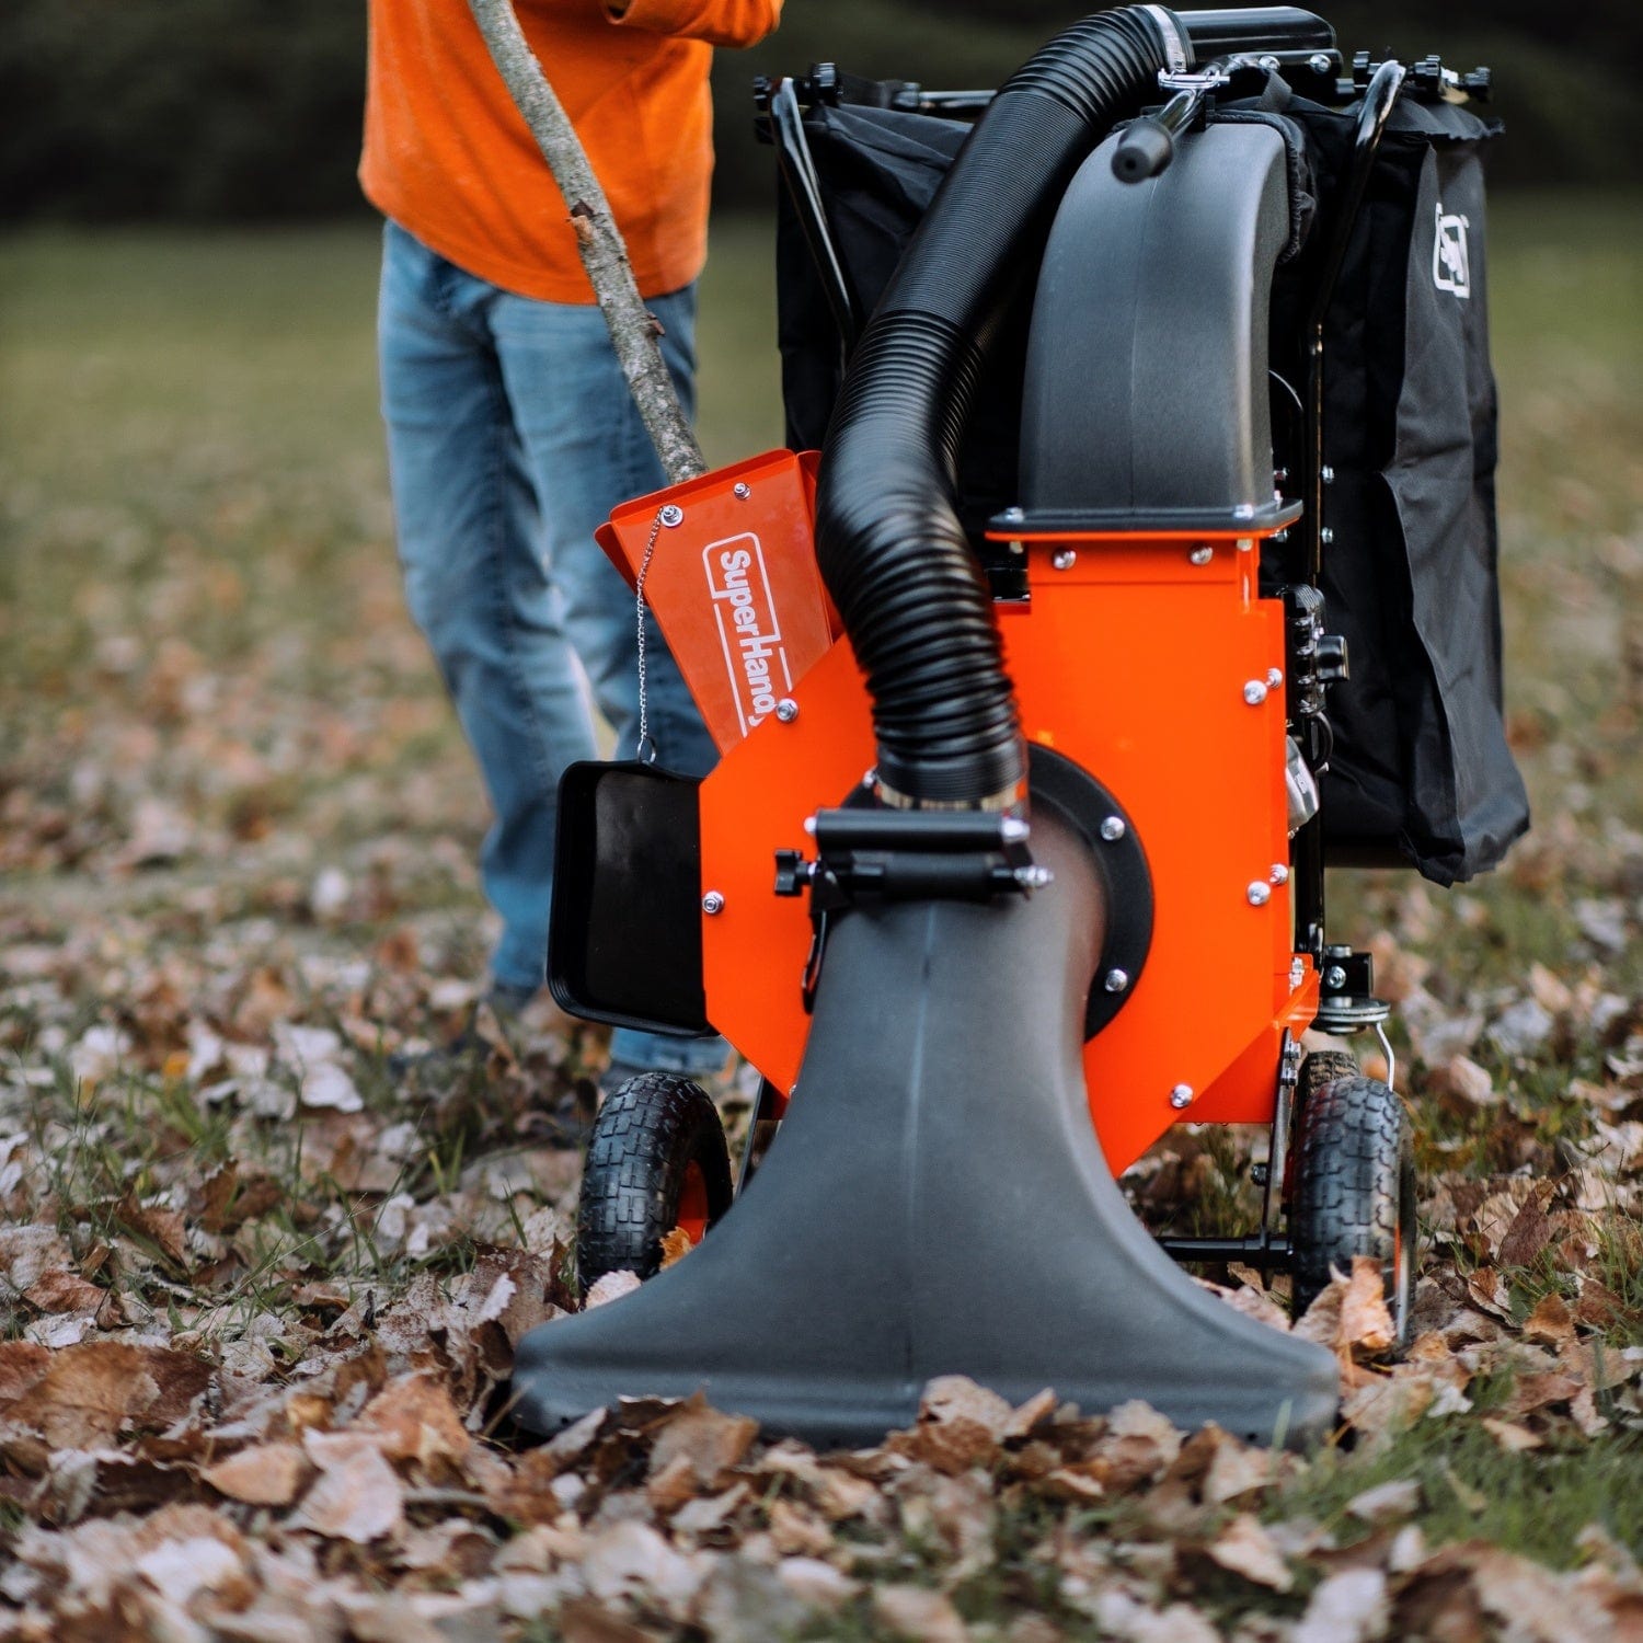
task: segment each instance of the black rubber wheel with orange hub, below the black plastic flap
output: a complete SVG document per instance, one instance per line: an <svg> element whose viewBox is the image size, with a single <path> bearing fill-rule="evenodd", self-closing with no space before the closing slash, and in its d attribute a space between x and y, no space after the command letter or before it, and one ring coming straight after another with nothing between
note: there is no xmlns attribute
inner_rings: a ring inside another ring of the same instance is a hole
<svg viewBox="0 0 1643 1643"><path fill-rule="evenodd" d="M725 1125L706 1091L677 1073L629 1078L600 1107L582 1165L582 1291L606 1272L652 1277L674 1227L700 1244L729 1201Z"/></svg>

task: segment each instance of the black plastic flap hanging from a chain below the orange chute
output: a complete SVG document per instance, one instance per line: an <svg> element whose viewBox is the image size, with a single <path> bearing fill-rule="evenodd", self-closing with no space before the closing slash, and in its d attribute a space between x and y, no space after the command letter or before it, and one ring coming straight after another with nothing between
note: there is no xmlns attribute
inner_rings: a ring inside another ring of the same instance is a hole
<svg viewBox="0 0 1643 1643"><path fill-rule="evenodd" d="M702 984L700 782L573 764L559 784L547 984L587 1020L713 1032Z"/></svg>

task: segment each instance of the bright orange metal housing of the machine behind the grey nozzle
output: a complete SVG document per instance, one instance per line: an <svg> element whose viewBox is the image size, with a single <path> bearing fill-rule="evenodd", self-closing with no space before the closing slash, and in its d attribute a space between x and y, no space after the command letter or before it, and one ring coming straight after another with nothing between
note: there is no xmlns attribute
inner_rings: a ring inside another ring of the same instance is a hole
<svg viewBox="0 0 1643 1643"><path fill-rule="evenodd" d="M1071 544L1030 542L1032 600L1001 624L1025 734L1114 794L1152 869L1147 966L1084 1053L1116 1171L1183 1117L1268 1119L1283 1027L1316 1004L1309 966L1291 973L1282 675L1268 682L1283 610L1255 595L1252 539L1214 541L1199 564L1201 542L1079 542L1071 560ZM702 790L703 889L725 897L703 918L708 1014L784 1089L808 1032L810 923L802 899L772 894L774 851L807 846L805 818L872 761L848 644L792 695L798 716L761 723ZM1183 1084L1185 1112L1170 1104Z"/></svg>

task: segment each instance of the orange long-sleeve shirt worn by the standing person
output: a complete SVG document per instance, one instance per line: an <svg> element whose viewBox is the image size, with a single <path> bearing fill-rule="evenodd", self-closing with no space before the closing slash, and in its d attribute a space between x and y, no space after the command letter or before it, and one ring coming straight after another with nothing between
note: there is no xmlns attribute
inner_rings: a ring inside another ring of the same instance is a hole
<svg viewBox="0 0 1643 1643"><path fill-rule="evenodd" d="M706 258L708 64L782 0L516 0L519 25L610 197L644 296ZM468 0L371 0L360 184L378 210L491 284L591 302L575 233Z"/></svg>

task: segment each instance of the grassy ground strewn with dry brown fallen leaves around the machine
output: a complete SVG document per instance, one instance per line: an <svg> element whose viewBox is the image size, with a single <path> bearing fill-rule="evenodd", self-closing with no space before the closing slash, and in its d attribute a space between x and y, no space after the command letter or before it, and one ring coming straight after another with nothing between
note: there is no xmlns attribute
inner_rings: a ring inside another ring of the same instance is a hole
<svg viewBox="0 0 1643 1643"><path fill-rule="evenodd" d="M499 1443L513 1344L578 1305L603 1048L537 1009L389 1061L462 1027L488 932L370 238L0 246L0 1636L1643 1636L1638 222L1498 212L1538 825L1472 891L1336 886L1400 1002L1424 1250L1403 1362L1364 1275L1303 1321L1349 1385L1306 1456L961 1382L863 1454L693 1405ZM720 457L774 442L766 261L721 235ZM1134 1196L1244 1231L1252 1145L1180 1130Z"/></svg>

